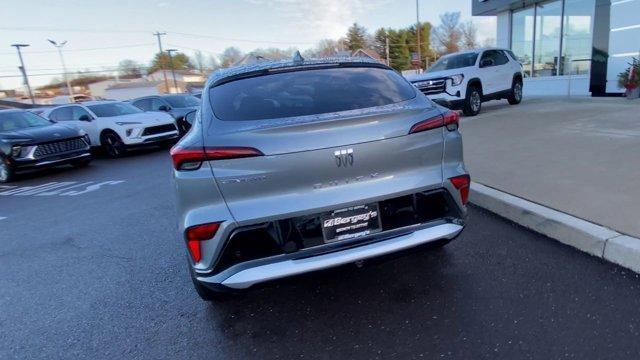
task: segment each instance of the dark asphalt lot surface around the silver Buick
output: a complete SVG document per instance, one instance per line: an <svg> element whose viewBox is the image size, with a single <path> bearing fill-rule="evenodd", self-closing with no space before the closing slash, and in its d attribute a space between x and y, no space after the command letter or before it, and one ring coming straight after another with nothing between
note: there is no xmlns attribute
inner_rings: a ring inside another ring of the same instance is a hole
<svg viewBox="0 0 640 360"><path fill-rule="evenodd" d="M0 187L0 358L637 359L640 277L481 209L442 250L192 289L166 150Z"/></svg>

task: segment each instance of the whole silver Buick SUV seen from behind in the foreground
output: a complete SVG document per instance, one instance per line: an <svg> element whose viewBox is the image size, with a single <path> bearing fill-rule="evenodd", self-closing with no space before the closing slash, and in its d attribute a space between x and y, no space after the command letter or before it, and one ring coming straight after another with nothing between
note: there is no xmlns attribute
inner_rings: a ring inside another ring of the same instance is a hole
<svg viewBox="0 0 640 360"><path fill-rule="evenodd" d="M413 248L463 229L458 115L354 58L216 72L171 150L198 294Z"/></svg>

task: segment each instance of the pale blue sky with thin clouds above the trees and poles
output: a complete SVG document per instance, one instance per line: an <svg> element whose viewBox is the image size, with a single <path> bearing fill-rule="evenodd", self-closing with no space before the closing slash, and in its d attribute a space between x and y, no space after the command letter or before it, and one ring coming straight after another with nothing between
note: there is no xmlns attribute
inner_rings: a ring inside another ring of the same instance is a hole
<svg viewBox="0 0 640 360"><path fill-rule="evenodd" d="M158 50L156 30L167 32L165 48L217 56L228 46L313 47L343 36L354 22L370 32L415 23L414 0L0 0L0 89L21 85L13 43L27 43L25 66L33 86L61 72L46 39L67 40L69 71L105 70L128 58L149 63ZM471 19L471 0L420 0L420 19L460 11ZM480 41L495 38L495 20L475 17ZM11 77L13 76L13 77Z"/></svg>

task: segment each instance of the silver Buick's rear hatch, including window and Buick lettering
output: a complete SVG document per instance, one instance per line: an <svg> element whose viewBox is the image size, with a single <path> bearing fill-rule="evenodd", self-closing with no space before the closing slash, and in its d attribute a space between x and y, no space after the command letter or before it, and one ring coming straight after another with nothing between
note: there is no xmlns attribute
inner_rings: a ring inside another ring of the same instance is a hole
<svg viewBox="0 0 640 360"><path fill-rule="evenodd" d="M261 156L210 161L239 224L368 204L442 186L440 110L389 69L327 68L215 86L205 147Z"/></svg>

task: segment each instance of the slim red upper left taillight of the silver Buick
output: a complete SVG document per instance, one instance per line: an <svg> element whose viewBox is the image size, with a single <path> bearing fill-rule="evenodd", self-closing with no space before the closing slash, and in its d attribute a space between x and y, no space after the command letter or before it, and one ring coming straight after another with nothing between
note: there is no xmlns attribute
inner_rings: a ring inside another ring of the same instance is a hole
<svg viewBox="0 0 640 360"><path fill-rule="evenodd" d="M197 170L205 160L226 160L244 157L262 156L259 150L249 147L194 147L183 148L179 145L171 148L171 159L176 170Z"/></svg>

